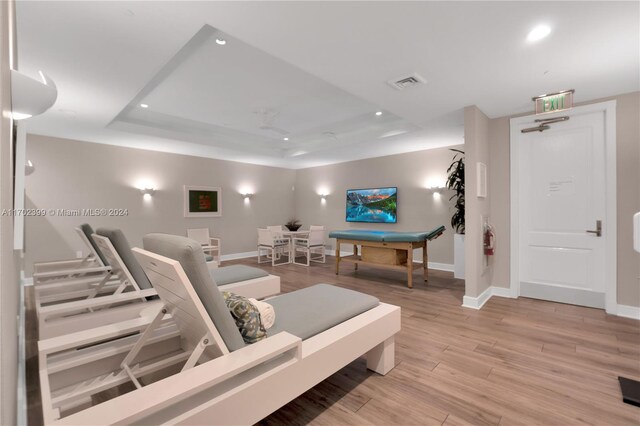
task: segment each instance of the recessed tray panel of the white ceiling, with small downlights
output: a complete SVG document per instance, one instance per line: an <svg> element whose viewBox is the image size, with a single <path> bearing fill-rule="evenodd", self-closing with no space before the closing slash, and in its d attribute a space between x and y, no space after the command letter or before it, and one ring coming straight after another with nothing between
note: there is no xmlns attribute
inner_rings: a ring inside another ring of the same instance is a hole
<svg viewBox="0 0 640 426"><path fill-rule="evenodd" d="M224 40L220 46L217 42ZM146 107L141 107L145 105ZM109 124L277 159L419 130L205 25Z"/></svg>

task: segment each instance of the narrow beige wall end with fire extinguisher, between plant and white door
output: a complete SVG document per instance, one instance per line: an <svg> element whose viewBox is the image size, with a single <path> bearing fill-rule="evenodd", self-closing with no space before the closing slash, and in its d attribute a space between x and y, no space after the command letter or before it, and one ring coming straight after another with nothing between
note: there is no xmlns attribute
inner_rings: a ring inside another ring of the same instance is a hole
<svg viewBox="0 0 640 426"><path fill-rule="evenodd" d="M490 223L494 220L490 217L493 191L487 191L487 197L477 196L478 163L484 163L489 171L493 158L489 154L489 118L476 106L464 109L464 149L465 296L477 297L491 285L493 269L492 258L489 258L489 264L485 264L482 239L483 218Z"/></svg>

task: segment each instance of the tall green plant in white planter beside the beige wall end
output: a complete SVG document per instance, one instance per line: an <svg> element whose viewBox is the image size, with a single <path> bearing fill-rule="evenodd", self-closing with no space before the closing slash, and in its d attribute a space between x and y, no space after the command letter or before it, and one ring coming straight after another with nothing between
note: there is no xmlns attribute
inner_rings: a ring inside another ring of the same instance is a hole
<svg viewBox="0 0 640 426"><path fill-rule="evenodd" d="M453 257L455 278L464 278L464 151L451 149L456 154L447 169L447 189L454 191L449 201L455 200L455 212L451 216L451 227L456 232L453 237Z"/></svg>

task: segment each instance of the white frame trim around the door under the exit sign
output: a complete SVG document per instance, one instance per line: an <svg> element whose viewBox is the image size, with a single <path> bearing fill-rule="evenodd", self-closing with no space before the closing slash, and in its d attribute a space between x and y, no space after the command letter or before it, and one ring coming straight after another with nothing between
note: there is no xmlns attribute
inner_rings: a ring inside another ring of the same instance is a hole
<svg viewBox="0 0 640 426"><path fill-rule="evenodd" d="M606 282L605 282L605 310L608 314L617 313L617 204L616 204L616 101L599 102L596 104L575 107L571 110L564 110L557 113L545 114L545 118L555 118L563 115L570 115L574 112L590 113L604 112L605 114L605 159L606 159L606 214L607 214L607 247L606 256ZM517 143L520 128L524 123L531 123L533 115L516 117L510 120L510 161L511 161L511 256L510 256L510 280L511 297L520 296L520 222L519 209L520 198L518 188L520 185L519 158L520 147Z"/></svg>

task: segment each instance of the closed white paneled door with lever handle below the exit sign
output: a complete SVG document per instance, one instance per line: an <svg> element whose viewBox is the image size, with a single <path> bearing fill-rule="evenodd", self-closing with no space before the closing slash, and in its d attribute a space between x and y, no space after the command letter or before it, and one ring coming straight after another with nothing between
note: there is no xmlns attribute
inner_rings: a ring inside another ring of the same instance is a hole
<svg viewBox="0 0 640 426"><path fill-rule="evenodd" d="M614 108L604 103L512 120L512 267L520 296L615 305ZM563 116L569 119L547 130L522 133L540 124L534 119Z"/></svg>

